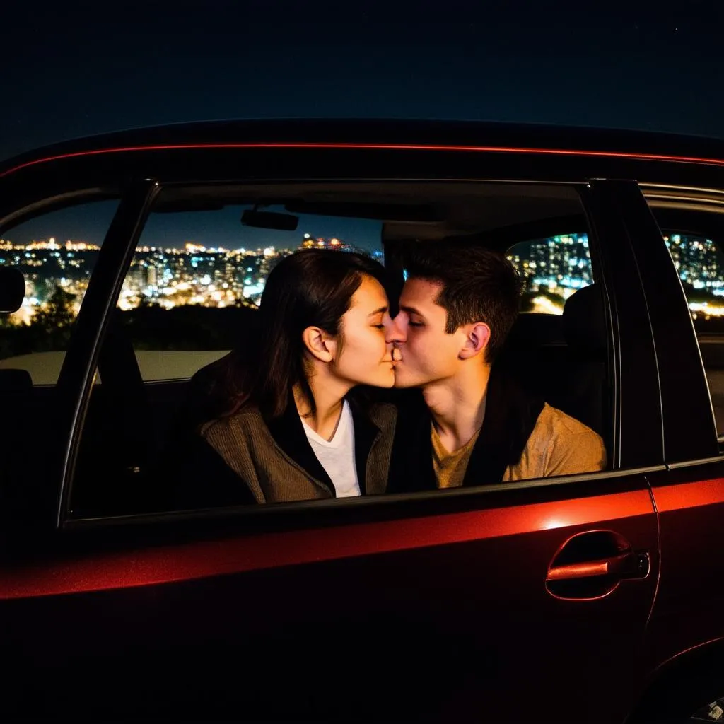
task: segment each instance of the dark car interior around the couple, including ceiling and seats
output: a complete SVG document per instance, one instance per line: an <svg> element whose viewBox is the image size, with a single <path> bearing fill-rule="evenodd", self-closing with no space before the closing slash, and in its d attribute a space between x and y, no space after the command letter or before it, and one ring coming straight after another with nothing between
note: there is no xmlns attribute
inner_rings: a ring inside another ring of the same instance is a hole
<svg viewBox="0 0 724 724"><path fill-rule="evenodd" d="M505 253L518 242L588 231L576 190L564 185L305 182L196 186L165 189L153 213L250 205L255 211L282 207L281 216L319 214L379 220L385 266L397 279L398 288L403 284L410 245L471 243ZM270 227L287 223L279 215L277 219L271 216L247 220ZM229 321L232 328L224 329L227 349L234 348L235 340L256 333L255 313L249 308L233 319L227 315L227 324ZM565 302L563 315L521 313L497 364L505 365L551 405L592 427L608 447L611 384L607 315L600 285L574 292ZM193 430L198 390L205 389L200 381L214 374L214 365L198 371L192 380L144 382L130 335L115 311L102 343L98 373L101 383L93 385L77 457L71 500L74 517L248 502L240 497L234 473ZM4 369L0 388L7 392L12 387L12 395L25 411L51 405L54 389L33 387L26 375L22 370ZM180 494L180 490L185 492Z"/></svg>

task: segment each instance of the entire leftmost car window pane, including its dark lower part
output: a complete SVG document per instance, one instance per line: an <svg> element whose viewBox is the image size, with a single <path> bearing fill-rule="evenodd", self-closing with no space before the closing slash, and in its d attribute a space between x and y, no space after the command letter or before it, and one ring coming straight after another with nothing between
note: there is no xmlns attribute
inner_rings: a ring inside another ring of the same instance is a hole
<svg viewBox="0 0 724 724"><path fill-rule="evenodd" d="M0 314L3 500L20 495L30 479L47 478L48 450L63 433L56 382L116 208L117 202L103 201L53 211L7 230L0 240L0 264L25 277L20 310Z"/></svg>

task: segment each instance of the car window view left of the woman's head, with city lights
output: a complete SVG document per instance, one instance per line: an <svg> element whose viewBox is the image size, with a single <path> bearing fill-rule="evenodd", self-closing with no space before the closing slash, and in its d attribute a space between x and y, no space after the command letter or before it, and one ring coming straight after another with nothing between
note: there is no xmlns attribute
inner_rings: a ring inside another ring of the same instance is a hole
<svg viewBox="0 0 724 724"><path fill-rule="evenodd" d="M117 303L145 381L189 379L234 348L253 324L266 277L290 253L330 248L382 259L380 222L307 214L290 232L243 226L251 209L149 217Z"/></svg>

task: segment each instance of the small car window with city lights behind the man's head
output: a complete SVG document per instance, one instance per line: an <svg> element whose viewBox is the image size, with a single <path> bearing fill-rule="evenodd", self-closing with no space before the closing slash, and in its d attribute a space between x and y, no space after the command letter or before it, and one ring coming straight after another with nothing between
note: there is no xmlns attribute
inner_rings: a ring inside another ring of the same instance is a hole
<svg viewBox="0 0 724 724"><path fill-rule="evenodd" d="M563 314L576 290L593 283L587 234L563 234L515 243L508 249L523 279L521 312Z"/></svg>

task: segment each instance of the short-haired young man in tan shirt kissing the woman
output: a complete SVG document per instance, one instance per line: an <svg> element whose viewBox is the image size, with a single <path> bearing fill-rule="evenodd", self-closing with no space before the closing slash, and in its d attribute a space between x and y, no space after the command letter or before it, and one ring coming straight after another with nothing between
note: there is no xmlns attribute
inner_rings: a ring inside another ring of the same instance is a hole
<svg viewBox="0 0 724 724"><path fill-rule="evenodd" d="M395 318L400 405L388 492L602 470L592 429L529 395L493 363L518 316L521 282L486 248L417 253ZM534 363L534 361L531 361Z"/></svg>

